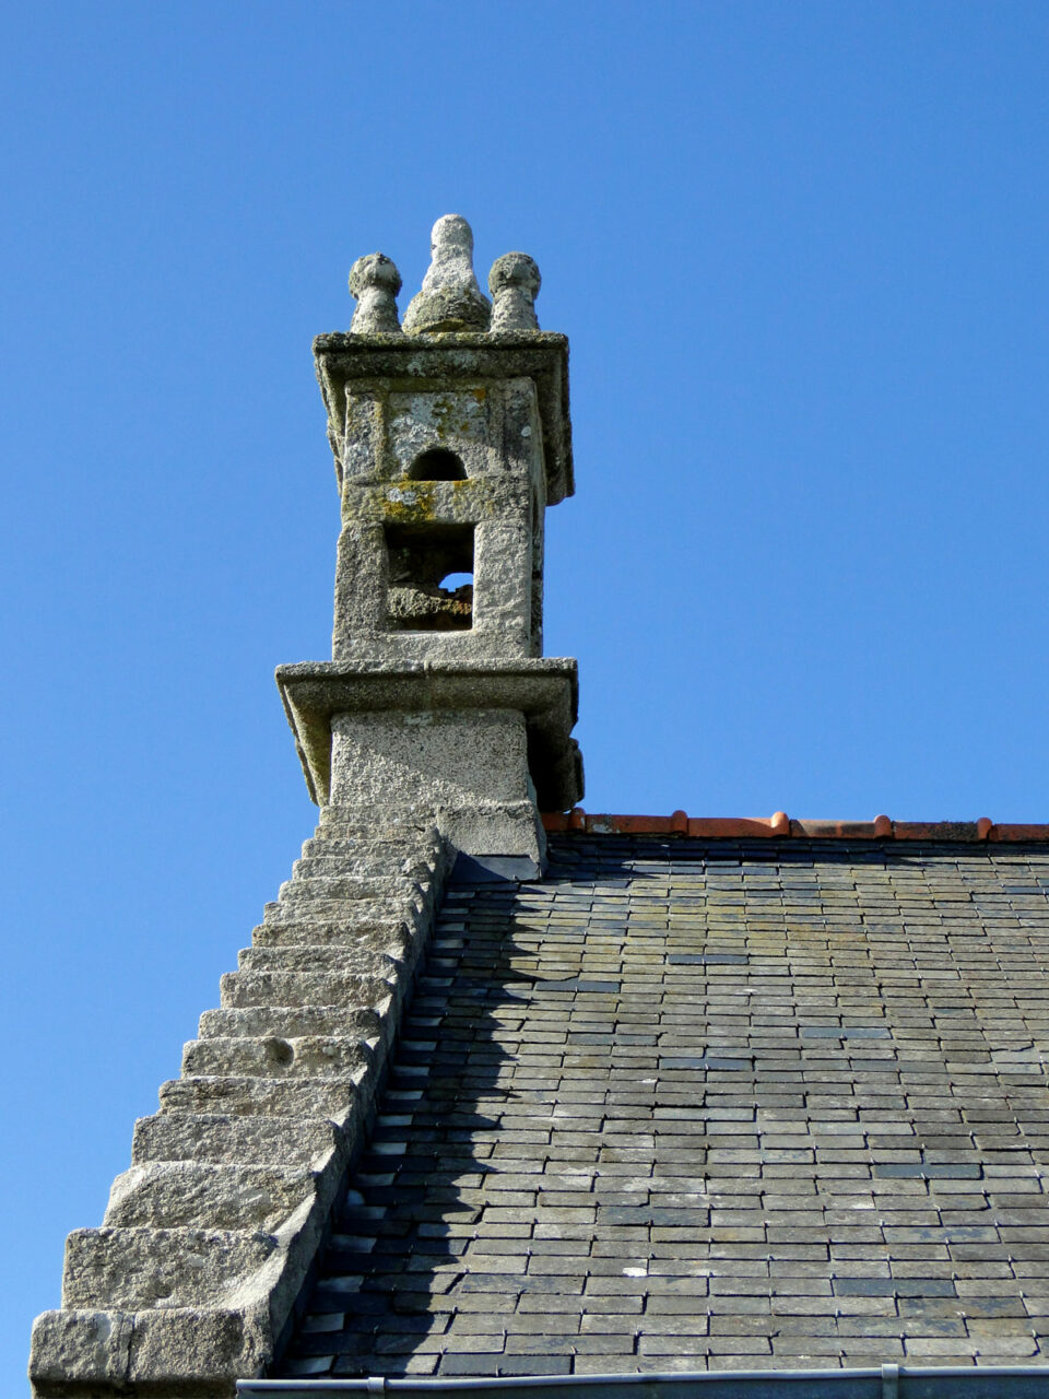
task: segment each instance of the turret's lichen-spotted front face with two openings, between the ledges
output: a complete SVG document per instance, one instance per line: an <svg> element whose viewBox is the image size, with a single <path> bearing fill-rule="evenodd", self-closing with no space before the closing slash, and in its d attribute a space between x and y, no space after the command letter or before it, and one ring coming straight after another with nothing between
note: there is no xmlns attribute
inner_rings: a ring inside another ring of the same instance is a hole
<svg viewBox="0 0 1049 1399"><path fill-rule="evenodd" d="M545 476L534 383L376 393L347 402L355 456L343 480L336 659L538 655ZM364 413L375 418L368 436L354 434ZM446 575L471 576L469 592L443 588Z"/></svg>

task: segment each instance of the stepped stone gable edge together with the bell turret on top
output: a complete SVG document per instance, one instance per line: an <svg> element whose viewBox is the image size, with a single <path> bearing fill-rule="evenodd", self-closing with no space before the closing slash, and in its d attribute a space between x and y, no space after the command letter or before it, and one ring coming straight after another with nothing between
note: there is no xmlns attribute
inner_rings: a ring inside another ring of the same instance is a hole
<svg viewBox="0 0 1049 1399"><path fill-rule="evenodd" d="M67 1241L38 1399L214 1399L267 1371L453 860L534 876L540 809L582 796L576 666L543 659L568 344L538 330L531 259L499 259L492 311L471 249L466 220L438 221L403 330L397 269L359 259L351 332L315 344L343 518L333 659L277 681L320 823L137 1123L104 1227Z"/></svg>

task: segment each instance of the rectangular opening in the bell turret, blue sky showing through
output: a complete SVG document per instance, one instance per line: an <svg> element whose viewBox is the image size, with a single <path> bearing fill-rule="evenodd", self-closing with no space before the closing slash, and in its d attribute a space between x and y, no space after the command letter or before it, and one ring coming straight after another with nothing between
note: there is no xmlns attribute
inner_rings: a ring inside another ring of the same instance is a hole
<svg viewBox="0 0 1049 1399"><path fill-rule="evenodd" d="M474 620L474 526L386 525L390 631L469 631Z"/></svg>

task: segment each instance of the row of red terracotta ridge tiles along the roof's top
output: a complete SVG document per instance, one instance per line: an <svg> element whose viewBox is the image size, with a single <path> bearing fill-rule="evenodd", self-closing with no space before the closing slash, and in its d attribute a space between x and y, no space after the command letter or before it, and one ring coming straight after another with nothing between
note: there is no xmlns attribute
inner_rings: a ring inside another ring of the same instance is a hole
<svg viewBox="0 0 1049 1399"><path fill-rule="evenodd" d="M592 835L691 835L706 839L808 841L1049 841L1049 824L997 824L987 816L978 821L873 821L790 820L786 811L771 818L736 816L590 816L580 806L543 814L547 831L587 831Z"/></svg>

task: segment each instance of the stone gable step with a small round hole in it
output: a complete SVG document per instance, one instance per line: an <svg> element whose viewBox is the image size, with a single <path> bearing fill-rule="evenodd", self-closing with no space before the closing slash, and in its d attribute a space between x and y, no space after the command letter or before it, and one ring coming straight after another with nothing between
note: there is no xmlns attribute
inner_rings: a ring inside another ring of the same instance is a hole
<svg viewBox="0 0 1049 1399"><path fill-rule="evenodd" d="M260 1079L347 1079L371 1069L372 1049L350 1035L224 1035L190 1039L182 1051L186 1077L257 1074Z"/></svg>

